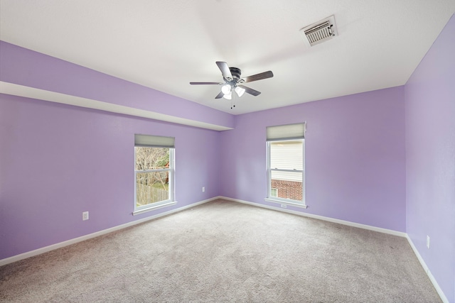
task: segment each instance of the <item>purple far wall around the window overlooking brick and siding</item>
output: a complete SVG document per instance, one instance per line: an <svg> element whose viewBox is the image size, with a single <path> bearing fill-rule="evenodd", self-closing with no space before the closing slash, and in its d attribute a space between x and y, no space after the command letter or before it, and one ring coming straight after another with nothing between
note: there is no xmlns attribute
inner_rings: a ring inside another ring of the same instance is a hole
<svg viewBox="0 0 455 303"><path fill-rule="evenodd" d="M220 194L266 197L266 126L307 122L306 204L288 209L405 231L403 87L236 116L220 133Z"/></svg>

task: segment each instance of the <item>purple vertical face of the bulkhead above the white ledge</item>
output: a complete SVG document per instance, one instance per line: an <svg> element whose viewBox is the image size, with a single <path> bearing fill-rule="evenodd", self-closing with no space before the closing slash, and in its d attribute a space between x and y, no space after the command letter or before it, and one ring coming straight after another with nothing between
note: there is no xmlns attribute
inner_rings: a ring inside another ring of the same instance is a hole
<svg viewBox="0 0 455 303"><path fill-rule="evenodd" d="M232 127L234 118L185 99L0 41L0 81ZM189 84L188 84L189 85Z"/></svg>

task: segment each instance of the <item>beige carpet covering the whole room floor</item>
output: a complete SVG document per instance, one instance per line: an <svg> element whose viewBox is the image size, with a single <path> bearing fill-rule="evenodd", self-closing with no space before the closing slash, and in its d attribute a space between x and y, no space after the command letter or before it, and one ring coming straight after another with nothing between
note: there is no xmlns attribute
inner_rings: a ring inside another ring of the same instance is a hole
<svg viewBox="0 0 455 303"><path fill-rule="evenodd" d="M218 200L0 268L1 302L441 302L405 238Z"/></svg>

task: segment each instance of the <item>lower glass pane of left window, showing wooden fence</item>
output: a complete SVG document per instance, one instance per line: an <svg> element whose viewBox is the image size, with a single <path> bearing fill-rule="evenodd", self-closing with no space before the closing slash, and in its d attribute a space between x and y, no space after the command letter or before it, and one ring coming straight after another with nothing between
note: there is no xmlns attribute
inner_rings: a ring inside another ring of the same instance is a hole
<svg viewBox="0 0 455 303"><path fill-rule="evenodd" d="M136 206L169 199L169 172L137 172Z"/></svg>

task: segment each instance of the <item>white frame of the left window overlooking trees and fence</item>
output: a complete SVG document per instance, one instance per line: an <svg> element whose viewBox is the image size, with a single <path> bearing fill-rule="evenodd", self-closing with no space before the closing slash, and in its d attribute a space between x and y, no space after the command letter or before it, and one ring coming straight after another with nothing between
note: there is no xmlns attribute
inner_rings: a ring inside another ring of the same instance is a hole
<svg viewBox="0 0 455 303"><path fill-rule="evenodd" d="M143 214L147 211L153 211L156 209L161 209L163 207L172 206L177 204L174 199L175 196L175 188L174 188L174 175L175 175L175 147L173 146L173 138L172 145L159 145L161 138L166 141L168 137L159 137L159 136L149 136L151 143L143 143L144 138L145 141L149 140L146 135L135 135L141 136L139 140L135 139L134 144L134 211L133 215ZM141 141L141 143L136 143L136 141ZM156 143L155 143L156 142ZM143 148L169 148L169 167L168 168L160 168L157 170L136 170L136 147L143 147ZM168 172L168 199L154 202L153 204L147 204L142 206L137 206L137 174L144 173L144 172Z"/></svg>

